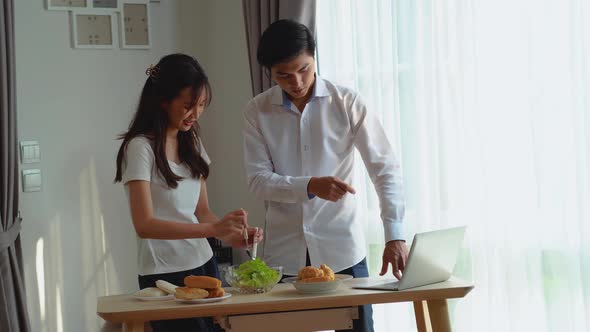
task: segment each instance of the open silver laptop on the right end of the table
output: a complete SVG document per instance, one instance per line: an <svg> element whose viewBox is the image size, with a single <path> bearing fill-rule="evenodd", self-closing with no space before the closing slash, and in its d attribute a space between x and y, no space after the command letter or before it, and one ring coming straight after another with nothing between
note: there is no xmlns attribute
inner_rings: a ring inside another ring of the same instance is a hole
<svg viewBox="0 0 590 332"><path fill-rule="evenodd" d="M465 226L417 233L401 280L367 280L353 288L400 291L446 281L455 268L464 235Z"/></svg>

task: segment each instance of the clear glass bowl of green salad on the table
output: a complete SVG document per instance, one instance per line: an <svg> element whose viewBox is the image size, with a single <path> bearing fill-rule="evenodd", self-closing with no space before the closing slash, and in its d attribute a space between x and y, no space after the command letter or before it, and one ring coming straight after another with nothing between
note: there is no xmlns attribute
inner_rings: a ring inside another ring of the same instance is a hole
<svg viewBox="0 0 590 332"><path fill-rule="evenodd" d="M258 278L256 272L252 272L250 274L242 275L242 279L236 270L239 268L239 265L231 265L224 267L222 270L223 278L225 281L232 287L234 287L238 292L242 294L256 294L256 293L266 293L270 292L271 289L281 280L283 277L283 267L282 266L271 266L269 267L271 270L276 272L276 278L272 278L270 280L265 280L265 282L259 281L257 282L256 279L268 279L268 278Z"/></svg>

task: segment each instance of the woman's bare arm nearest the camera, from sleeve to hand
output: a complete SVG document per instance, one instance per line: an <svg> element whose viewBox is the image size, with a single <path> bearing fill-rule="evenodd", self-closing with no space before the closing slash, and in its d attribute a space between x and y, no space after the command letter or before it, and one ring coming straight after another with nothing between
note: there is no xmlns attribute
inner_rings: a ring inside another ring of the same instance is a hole
<svg viewBox="0 0 590 332"><path fill-rule="evenodd" d="M144 239L178 240L242 234L244 219L232 217L224 223L188 224L154 218L148 181L129 181L131 218L137 235Z"/></svg>

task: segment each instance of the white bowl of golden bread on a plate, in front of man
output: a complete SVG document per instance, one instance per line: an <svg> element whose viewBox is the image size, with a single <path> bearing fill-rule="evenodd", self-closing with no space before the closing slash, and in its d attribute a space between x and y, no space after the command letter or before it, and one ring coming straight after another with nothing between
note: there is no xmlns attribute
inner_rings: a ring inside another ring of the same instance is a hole
<svg viewBox="0 0 590 332"><path fill-rule="evenodd" d="M300 293L318 294L333 292L340 287L342 281L352 278L348 274L335 274L329 266L322 264L319 268L305 266L296 277L285 278L282 282L292 284Z"/></svg>

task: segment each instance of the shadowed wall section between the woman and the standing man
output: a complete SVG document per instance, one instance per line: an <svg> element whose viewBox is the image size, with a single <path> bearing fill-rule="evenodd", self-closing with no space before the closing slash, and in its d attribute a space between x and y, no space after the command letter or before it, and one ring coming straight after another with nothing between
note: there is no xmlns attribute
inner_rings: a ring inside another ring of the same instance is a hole
<svg viewBox="0 0 590 332"><path fill-rule="evenodd" d="M243 161L242 110L252 90L242 2L191 0L180 4L181 21L193 22L181 31L182 47L203 65L213 87L213 103L200 120L213 160L207 181L210 204L220 216L242 207L249 211L251 225L262 226L263 203L248 191ZM194 17L193 13L201 15Z"/></svg>

